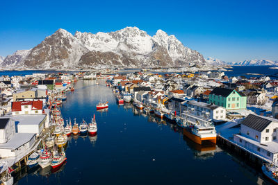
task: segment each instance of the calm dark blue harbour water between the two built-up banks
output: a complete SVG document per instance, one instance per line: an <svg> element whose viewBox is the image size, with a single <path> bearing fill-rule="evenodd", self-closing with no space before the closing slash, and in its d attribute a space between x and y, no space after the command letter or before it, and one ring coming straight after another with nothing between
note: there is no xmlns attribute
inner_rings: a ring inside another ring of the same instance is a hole
<svg viewBox="0 0 278 185"><path fill-rule="evenodd" d="M70 138L67 164L57 173L22 172L18 184L265 184L261 173L217 146L198 146L172 125L117 105L104 80L79 80L61 107L65 119L89 122L96 114L97 136ZM97 112L108 100L107 112ZM50 170L50 169L49 169ZM43 175L41 175L43 174Z"/></svg>

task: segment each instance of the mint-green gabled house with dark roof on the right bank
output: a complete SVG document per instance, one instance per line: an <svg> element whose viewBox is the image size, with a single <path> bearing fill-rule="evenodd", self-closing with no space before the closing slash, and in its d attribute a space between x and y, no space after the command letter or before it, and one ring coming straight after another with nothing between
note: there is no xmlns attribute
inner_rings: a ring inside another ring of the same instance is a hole
<svg viewBox="0 0 278 185"><path fill-rule="evenodd" d="M246 109L247 97L245 94L234 89L216 87L211 91L209 103L229 109Z"/></svg>

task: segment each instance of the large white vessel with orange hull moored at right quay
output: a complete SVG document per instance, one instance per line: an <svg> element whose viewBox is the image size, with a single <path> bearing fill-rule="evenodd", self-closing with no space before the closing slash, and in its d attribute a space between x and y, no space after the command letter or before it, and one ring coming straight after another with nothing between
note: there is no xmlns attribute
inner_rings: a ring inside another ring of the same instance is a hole
<svg viewBox="0 0 278 185"><path fill-rule="evenodd" d="M197 144L202 145L203 141L216 143L216 131L213 123L186 125L183 128L183 134Z"/></svg>

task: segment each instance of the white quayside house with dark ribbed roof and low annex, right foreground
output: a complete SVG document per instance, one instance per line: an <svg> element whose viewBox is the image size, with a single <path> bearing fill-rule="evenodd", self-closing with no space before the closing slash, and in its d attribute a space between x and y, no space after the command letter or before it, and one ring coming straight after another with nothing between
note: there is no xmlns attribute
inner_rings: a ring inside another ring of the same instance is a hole
<svg viewBox="0 0 278 185"><path fill-rule="evenodd" d="M278 120L249 114L242 122L240 134L234 134L234 142L256 155L270 161L278 158Z"/></svg>

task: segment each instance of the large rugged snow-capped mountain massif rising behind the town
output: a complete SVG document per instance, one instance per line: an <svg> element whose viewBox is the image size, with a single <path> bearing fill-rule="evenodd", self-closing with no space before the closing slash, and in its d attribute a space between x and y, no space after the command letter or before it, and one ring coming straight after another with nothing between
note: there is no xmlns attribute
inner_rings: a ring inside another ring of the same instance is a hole
<svg viewBox="0 0 278 185"><path fill-rule="evenodd" d="M59 29L31 50L9 55L2 67L39 69L76 67L174 67L206 64L203 56L158 30L150 36L136 27L111 33L74 35Z"/></svg>

